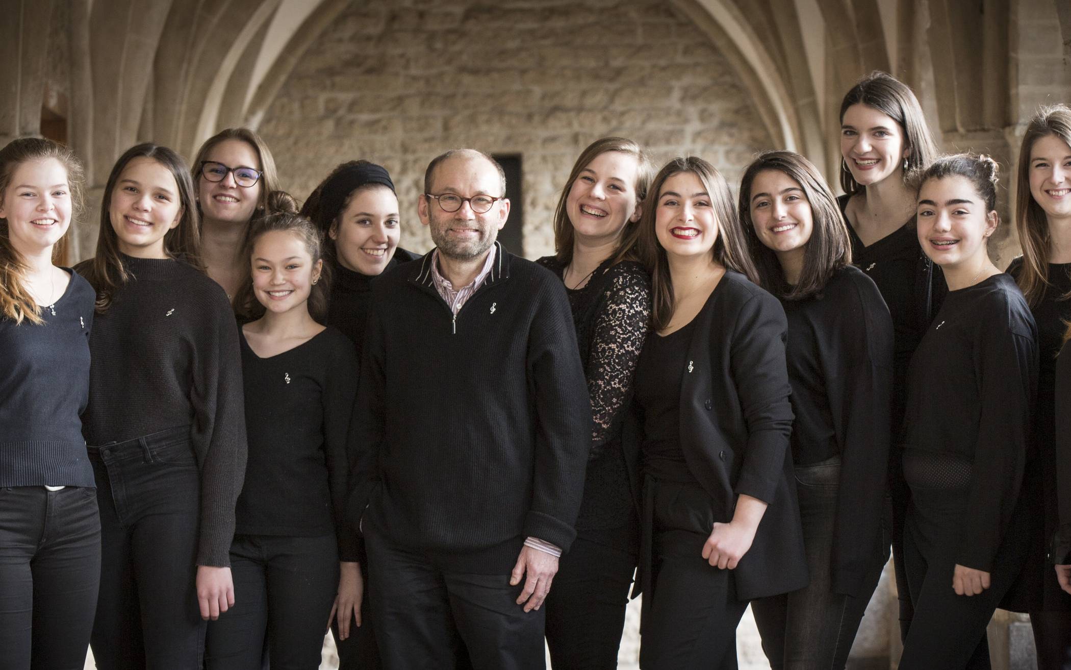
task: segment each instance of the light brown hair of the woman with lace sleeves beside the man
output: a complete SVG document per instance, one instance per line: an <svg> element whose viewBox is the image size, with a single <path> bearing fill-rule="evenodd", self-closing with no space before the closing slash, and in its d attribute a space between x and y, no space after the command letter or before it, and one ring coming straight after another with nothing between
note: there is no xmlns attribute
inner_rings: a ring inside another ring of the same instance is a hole
<svg viewBox="0 0 1071 670"><path fill-rule="evenodd" d="M573 169L569 173L569 179L565 180L565 185L561 190L561 196L558 198L558 206L554 210L555 257L562 265L569 265L573 259L573 223L569 220L569 212L565 211L565 200L569 199L569 193L573 190L573 184L580 176L580 170L590 165L591 161L608 151L628 153L636 158L636 183L634 184L634 189L637 206L647 196L647 189L651 183L651 174L654 172L654 168L647 152L637 143L625 137L602 137L588 145L580 152L580 155L576 158L576 162L573 163ZM638 233L638 221L636 223L625 221L621 236L618 238L617 249L610 254L614 263L628 257L632 253Z"/></svg>

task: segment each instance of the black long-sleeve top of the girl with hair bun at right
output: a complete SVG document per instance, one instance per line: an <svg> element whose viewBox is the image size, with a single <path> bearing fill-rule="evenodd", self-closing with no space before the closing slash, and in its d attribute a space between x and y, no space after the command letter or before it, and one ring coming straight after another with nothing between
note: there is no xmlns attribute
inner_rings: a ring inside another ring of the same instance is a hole
<svg viewBox="0 0 1071 670"><path fill-rule="evenodd" d="M992 569L1019 500L1037 386L1037 328L1015 281L995 274L949 292L911 358L904 458L971 464L960 565Z"/></svg>

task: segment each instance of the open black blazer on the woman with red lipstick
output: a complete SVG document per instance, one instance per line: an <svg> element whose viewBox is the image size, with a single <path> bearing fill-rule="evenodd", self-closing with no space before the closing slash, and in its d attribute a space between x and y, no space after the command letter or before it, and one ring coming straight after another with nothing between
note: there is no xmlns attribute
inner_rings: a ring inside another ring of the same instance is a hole
<svg viewBox="0 0 1071 670"><path fill-rule="evenodd" d="M733 570L737 596L751 600L802 589L810 578L788 448L784 310L743 274L726 271L695 318L680 386L684 460L713 500L719 521L733 520L741 493L769 505ZM638 491L644 434L635 403L622 440Z"/></svg>

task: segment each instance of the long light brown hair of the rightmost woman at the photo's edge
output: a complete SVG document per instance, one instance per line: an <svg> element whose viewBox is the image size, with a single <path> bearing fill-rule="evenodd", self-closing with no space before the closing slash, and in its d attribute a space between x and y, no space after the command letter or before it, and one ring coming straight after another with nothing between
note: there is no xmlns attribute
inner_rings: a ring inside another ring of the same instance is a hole
<svg viewBox="0 0 1071 670"><path fill-rule="evenodd" d="M1049 218L1030 194L1030 153L1034 143L1054 135L1071 146L1071 107L1053 105L1042 107L1034 115L1023 134L1019 150L1019 169L1015 178L1015 230L1023 248L1023 267L1019 272L1019 287L1030 307L1037 307L1045 295L1049 281L1049 252L1052 238L1049 233ZM1057 300L1068 300L1071 293Z"/></svg>

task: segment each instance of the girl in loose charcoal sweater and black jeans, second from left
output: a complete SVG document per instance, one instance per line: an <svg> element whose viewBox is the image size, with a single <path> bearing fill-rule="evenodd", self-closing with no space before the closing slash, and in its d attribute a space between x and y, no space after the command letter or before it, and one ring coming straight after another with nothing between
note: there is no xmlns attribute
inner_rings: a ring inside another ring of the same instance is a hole
<svg viewBox="0 0 1071 670"><path fill-rule="evenodd" d="M84 434L101 508L97 668L199 668L205 621L235 604L245 473L238 328L200 265L190 168L141 144L112 168L95 257Z"/></svg>

